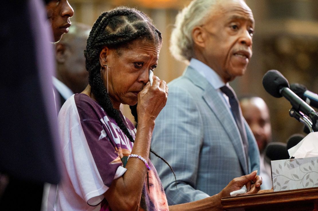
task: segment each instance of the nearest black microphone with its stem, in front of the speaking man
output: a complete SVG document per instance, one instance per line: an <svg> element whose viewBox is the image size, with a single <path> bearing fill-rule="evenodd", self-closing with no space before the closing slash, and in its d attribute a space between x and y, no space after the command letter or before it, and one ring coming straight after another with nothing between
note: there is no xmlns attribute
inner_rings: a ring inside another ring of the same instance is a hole
<svg viewBox="0 0 318 211"><path fill-rule="evenodd" d="M309 116L312 120L312 128L314 131L318 131L318 115L313 108L311 108L306 102L304 102L299 96L297 96L292 90L289 89L289 83L287 79L277 70L268 70L263 77L263 86L265 90L274 97L284 96L292 105L292 109L301 111L305 115ZM297 118L297 117L296 117ZM297 118L299 119L299 117Z"/></svg>

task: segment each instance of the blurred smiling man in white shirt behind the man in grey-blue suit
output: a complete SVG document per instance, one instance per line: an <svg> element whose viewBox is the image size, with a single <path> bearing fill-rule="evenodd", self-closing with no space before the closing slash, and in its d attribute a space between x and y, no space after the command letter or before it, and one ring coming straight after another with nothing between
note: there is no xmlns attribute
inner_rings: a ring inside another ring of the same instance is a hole
<svg viewBox="0 0 318 211"><path fill-rule="evenodd" d="M266 102L256 96L240 98L242 114L250 126L255 136L260 152L260 172L263 179L262 189L271 189L273 186L271 175L271 164L266 162L265 148L272 142L272 127L269 115L269 109Z"/></svg>

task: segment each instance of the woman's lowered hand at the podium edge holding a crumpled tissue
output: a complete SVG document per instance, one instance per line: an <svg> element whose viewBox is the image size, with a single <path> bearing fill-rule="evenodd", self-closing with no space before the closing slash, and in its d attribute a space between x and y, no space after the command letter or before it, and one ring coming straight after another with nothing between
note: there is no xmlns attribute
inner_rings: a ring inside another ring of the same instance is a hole
<svg viewBox="0 0 318 211"><path fill-rule="evenodd" d="M257 170L249 175L234 178L230 183L219 193L220 198L230 196L230 193L239 190L243 185L246 186L247 192L242 195L256 194L260 190L262 178L257 174Z"/></svg>

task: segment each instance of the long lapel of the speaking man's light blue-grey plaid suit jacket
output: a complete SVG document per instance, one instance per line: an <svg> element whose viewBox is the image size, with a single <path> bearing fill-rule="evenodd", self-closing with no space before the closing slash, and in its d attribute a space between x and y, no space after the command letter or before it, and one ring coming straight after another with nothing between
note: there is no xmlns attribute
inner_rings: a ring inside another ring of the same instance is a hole
<svg viewBox="0 0 318 211"><path fill-rule="evenodd" d="M235 124L233 116L229 113L226 105L218 95L218 92L201 74L191 67L188 67L184 73L184 76L188 77L190 81L203 89L202 97L227 132L238 155L242 169L244 170L245 174L248 174L248 166L245 159L245 153L243 151L243 144L239 135L239 129Z"/></svg>

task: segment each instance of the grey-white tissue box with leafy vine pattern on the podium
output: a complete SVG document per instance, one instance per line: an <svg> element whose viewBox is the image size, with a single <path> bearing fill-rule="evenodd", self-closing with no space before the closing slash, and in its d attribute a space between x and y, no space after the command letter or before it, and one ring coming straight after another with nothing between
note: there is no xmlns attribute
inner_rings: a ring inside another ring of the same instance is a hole
<svg viewBox="0 0 318 211"><path fill-rule="evenodd" d="M271 161L274 191L318 187L318 157Z"/></svg>

